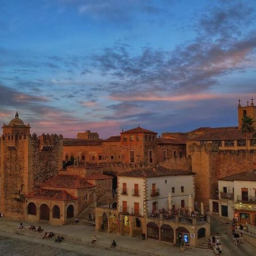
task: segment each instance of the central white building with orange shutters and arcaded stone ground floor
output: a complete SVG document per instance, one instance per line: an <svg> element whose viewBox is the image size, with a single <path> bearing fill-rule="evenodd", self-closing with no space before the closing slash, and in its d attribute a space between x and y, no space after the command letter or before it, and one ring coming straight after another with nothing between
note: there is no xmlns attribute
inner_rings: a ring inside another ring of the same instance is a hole
<svg viewBox="0 0 256 256"><path fill-rule="evenodd" d="M108 221L108 231L129 236L142 236L159 241L180 244L181 240L196 246L210 236L209 220L194 218L191 222L182 216L168 218L163 209L189 209L195 197L194 173L169 170L162 166L139 168L118 175L117 209L108 206L96 208L96 229ZM110 211L110 213L109 213ZM158 212L158 215L152 215ZM117 228L118 224L118 228Z"/></svg>

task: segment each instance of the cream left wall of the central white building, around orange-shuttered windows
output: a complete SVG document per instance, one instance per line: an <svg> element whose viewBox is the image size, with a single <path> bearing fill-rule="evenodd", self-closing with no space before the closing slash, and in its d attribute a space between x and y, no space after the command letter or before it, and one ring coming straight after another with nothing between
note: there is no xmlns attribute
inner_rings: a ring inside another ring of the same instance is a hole
<svg viewBox="0 0 256 256"><path fill-rule="evenodd" d="M123 183L126 183L127 195L122 195ZM139 185L139 196L133 196L134 184ZM127 208L129 213L131 209L134 208L134 202L139 203L139 209L143 215L143 203L144 203L144 179L143 177L125 177L118 176L118 205L119 210L123 207L123 201L127 201Z"/></svg>

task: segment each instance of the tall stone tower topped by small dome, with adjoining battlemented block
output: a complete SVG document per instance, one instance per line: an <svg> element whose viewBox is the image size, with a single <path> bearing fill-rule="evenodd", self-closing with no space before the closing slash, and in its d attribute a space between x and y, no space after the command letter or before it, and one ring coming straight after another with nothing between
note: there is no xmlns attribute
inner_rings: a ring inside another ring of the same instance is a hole
<svg viewBox="0 0 256 256"><path fill-rule="evenodd" d="M23 218L24 196L39 183L56 175L62 164L62 135L30 134L18 113L9 125L3 124L0 138L0 212Z"/></svg>

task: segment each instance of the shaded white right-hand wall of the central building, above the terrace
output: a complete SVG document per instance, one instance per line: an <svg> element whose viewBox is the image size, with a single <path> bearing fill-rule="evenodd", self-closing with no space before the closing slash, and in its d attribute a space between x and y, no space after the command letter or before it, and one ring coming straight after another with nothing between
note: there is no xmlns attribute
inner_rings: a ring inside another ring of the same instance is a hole
<svg viewBox="0 0 256 256"><path fill-rule="evenodd" d="M166 183L167 180L167 183ZM151 197L152 184L156 184L156 189L159 189L160 195ZM184 187L184 192L181 193L180 187ZM172 193L172 187L175 188L175 193ZM158 201L157 208L168 209L168 196L169 192L172 195L172 205L175 204L175 208L181 207L181 200L185 200L185 208L188 208L189 194L192 198L195 198L195 188L193 185L192 175L180 175L180 176L162 176L162 177L147 177L147 211L152 212L152 203ZM192 200L193 207L193 200Z"/></svg>

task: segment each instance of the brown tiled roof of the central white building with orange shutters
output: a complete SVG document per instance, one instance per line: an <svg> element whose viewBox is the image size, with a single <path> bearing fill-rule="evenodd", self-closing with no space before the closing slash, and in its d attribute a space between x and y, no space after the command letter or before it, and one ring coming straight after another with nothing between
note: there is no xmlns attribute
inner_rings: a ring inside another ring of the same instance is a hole
<svg viewBox="0 0 256 256"><path fill-rule="evenodd" d="M134 171L122 172L117 176L128 177L158 177L158 176L179 176L179 175L195 175L195 172L188 172L184 170L170 170L163 166L141 168Z"/></svg>

